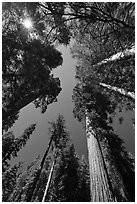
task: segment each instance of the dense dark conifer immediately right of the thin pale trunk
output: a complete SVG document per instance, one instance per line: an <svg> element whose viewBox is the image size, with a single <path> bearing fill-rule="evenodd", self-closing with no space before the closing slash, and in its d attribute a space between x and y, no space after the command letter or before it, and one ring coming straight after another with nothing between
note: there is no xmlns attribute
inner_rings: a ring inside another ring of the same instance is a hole
<svg viewBox="0 0 137 204"><path fill-rule="evenodd" d="M63 149L57 160L51 186L50 201L74 202L78 200L79 162L73 145ZM53 190L52 190L53 189Z"/></svg>

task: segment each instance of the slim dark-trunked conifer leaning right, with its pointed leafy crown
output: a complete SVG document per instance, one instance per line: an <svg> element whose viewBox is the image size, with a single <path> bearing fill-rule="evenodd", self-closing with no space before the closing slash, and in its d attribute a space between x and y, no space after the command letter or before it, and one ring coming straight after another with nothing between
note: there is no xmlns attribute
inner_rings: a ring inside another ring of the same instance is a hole
<svg viewBox="0 0 137 204"><path fill-rule="evenodd" d="M49 151L52 150L54 152L53 154L56 154L56 151L57 152L61 151L61 149L63 149L64 145L66 145L66 142L68 141L68 138L67 138L68 133L65 130L65 120L62 115L58 116L57 121L51 122L51 127L49 129L49 132L50 132L51 138L50 138L48 147L45 151L45 154L40 162L38 169L35 171L35 174L33 176L33 179L31 180L30 186L27 188L28 189L28 193L26 197L27 202L30 202L31 200L35 200L36 198L39 179L42 173L42 169L44 167L44 163L49 154Z"/></svg>

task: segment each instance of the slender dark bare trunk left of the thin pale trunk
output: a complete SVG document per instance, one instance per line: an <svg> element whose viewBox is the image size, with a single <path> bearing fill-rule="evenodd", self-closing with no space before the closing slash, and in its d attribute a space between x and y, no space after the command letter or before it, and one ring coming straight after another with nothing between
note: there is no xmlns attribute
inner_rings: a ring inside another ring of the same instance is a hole
<svg viewBox="0 0 137 204"><path fill-rule="evenodd" d="M32 187L32 191L31 191L31 194L30 194L29 198L27 199L27 202L31 202L32 197L33 197L33 195L34 195L34 193L35 193L35 191L36 191L36 189L37 189L37 183L38 183L38 180L39 180L39 178L40 178L40 174L41 174L41 171L42 171L42 168L43 168L45 159L46 159L46 157L47 157L47 155L48 155L48 152L49 152L49 149L50 149L50 147L51 147L51 144L52 144L52 141L53 141L53 136L54 136L54 135L52 135L51 138L50 138L50 141L49 141L49 144L48 144L48 148L47 148L47 150L46 150L46 152L45 152L45 154L44 154L44 156L43 156L43 159L42 159L42 161L41 161L40 167L39 167L39 169L38 169L37 177L36 177L36 179L35 179L35 181L34 181L34 184L33 184L33 187Z"/></svg>

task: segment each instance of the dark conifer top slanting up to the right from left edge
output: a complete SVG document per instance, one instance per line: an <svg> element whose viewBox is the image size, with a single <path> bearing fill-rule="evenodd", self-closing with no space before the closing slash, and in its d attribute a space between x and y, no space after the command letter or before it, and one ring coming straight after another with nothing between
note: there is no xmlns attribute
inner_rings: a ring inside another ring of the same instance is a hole
<svg viewBox="0 0 137 204"><path fill-rule="evenodd" d="M12 132L7 132L2 136L3 171L9 166L11 158L17 157L18 152L26 145L35 127L36 124L30 125L20 137L15 137Z"/></svg>

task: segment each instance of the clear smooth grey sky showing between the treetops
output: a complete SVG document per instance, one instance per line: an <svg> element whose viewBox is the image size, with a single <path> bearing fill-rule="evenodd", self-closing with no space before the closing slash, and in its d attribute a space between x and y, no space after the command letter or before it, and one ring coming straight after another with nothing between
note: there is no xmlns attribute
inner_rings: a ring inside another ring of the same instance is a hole
<svg viewBox="0 0 137 204"><path fill-rule="evenodd" d="M72 92L76 85L75 80L75 65L76 61L72 59L69 47L60 46L59 50L62 52L63 65L54 69L53 74L60 78L62 91L58 96L58 102L48 105L47 111L42 114L40 108L35 108L31 103L20 111L18 121L13 125L11 130L16 137L21 136L25 128L30 124L36 123L36 129L28 140L26 146L19 152L18 158L14 162L25 161L32 162L38 155L44 155L48 146L49 134L48 121L55 121L59 114L62 114L66 120L66 127L70 132L72 143L75 146L79 157L83 154L87 158L87 144L86 133L80 122L73 116ZM118 118L121 113L114 119L114 130L125 141L125 146L133 155L135 152L134 128L131 118L134 113L129 111L124 113L124 121L119 125Z"/></svg>

